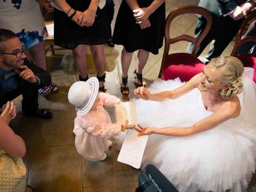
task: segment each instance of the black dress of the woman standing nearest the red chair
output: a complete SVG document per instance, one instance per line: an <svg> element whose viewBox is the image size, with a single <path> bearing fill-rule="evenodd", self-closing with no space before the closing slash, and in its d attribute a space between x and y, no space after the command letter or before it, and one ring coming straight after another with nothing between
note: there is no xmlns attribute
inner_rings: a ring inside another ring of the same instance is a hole
<svg viewBox="0 0 256 192"><path fill-rule="evenodd" d="M140 8L148 7L154 0L137 0ZM149 16L151 26L141 29L136 24L133 12L126 3L122 1L113 34L114 44L123 45L127 52L143 49L152 54L158 54L164 40L165 3L159 6Z"/></svg>

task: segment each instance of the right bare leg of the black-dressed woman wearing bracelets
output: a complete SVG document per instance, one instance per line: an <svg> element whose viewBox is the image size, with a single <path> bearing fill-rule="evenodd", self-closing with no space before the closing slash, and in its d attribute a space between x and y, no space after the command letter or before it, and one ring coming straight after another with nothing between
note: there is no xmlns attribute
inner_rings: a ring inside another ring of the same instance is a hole
<svg viewBox="0 0 256 192"><path fill-rule="evenodd" d="M92 52L92 57L94 60L94 64L97 70L97 75L99 77L103 76L104 72L104 64L105 64L105 52L104 52L104 44L103 45L90 45L90 49ZM103 87L104 82L100 81L99 82L99 87Z"/></svg>

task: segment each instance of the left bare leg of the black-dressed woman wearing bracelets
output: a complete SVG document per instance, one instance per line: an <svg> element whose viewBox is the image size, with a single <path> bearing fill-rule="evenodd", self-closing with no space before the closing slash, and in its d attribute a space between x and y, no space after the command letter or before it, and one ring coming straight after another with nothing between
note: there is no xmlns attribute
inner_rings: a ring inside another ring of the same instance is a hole
<svg viewBox="0 0 256 192"><path fill-rule="evenodd" d="M81 74L82 78L86 78L87 61L86 61L86 47L85 45L78 45L72 49L74 62Z"/></svg>

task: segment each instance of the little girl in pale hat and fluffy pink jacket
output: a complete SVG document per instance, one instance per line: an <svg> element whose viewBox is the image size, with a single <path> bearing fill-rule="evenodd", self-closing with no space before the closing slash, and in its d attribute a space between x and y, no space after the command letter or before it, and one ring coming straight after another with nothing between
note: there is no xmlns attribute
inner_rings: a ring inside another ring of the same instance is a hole
<svg viewBox="0 0 256 192"><path fill-rule="evenodd" d="M119 135L126 129L134 129L134 125L112 124L108 112L103 105L114 106L120 102L116 96L98 93L98 79L92 77L86 82L75 82L68 91L68 100L76 106L74 120L75 144L78 153L90 161L106 159L104 150L112 146L107 137Z"/></svg>

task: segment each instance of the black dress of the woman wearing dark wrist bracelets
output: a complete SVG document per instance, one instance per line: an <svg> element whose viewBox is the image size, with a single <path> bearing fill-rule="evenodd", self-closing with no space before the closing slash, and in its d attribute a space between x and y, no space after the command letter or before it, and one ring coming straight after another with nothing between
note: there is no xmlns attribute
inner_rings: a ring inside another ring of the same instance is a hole
<svg viewBox="0 0 256 192"><path fill-rule="evenodd" d="M66 0L74 9L84 12L90 5L90 0ZM98 7L94 24L90 27L79 26L68 16L54 8L54 43L67 49L74 49L80 44L105 44L111 38L111 28L108 22L106 6Z"/></svg>

